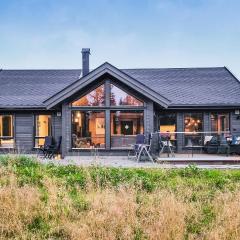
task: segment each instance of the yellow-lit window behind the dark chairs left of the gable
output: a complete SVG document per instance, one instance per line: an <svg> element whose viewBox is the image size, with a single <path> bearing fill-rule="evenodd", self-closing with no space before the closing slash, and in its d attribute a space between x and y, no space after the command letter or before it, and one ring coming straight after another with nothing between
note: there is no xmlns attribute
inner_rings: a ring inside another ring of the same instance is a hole
<svg viewBox="0 0 240 240"><path fill-rule="evenodd" d="M35 147L42 146L46 136L52 135L51 115L35 116Z"/></svg>

